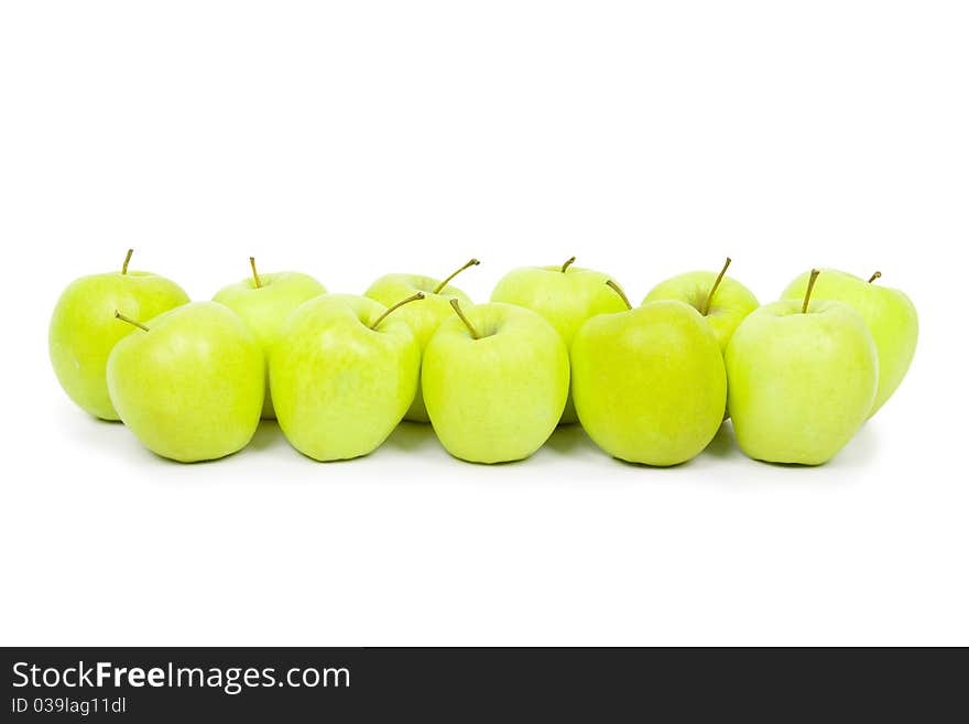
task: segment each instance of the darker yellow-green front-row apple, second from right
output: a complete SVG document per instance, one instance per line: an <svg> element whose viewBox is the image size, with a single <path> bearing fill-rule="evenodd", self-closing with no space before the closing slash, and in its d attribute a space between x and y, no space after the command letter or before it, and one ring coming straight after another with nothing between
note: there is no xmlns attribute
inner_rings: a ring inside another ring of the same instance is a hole
<svg viewBox="0 0 969 724"><path fill-rule="evenodd" d="M704 317L683 302L592 317L573 342L571 369L583 428L630 463L684 463L723 418L723 356Z"/></svg>

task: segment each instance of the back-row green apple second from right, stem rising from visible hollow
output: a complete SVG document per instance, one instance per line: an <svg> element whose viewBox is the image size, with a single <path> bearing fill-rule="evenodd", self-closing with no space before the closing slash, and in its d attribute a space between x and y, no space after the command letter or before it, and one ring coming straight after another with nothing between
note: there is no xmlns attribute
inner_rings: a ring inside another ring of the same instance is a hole
<svg viewBox="0 0 969 724"><path fill-rule="evenodd" d="M720 345L727 352L727 343L743 318L753 312L760 302L756 296L736 279L727 277L730 258L719 273L716 271L690 271L656 284L643 300L656 302L675 300L685 302L699 312Z"/></svg>

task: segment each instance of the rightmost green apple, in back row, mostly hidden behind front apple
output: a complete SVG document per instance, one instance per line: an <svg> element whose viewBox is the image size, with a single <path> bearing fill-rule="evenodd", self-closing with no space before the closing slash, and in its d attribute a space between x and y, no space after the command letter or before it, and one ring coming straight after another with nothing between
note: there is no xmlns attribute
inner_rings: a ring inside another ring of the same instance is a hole
<svg viewBox="0 0 969 724"><path fill-rule="evenodd" d="M795 279L782 299L804 299L810 272ZM918 343L918 315L904 292L835 269L824 269L815 282L812 299L843 302L858 312L868 325L879 353L879 389L871 418L899 389L915 357Z"/></svg>

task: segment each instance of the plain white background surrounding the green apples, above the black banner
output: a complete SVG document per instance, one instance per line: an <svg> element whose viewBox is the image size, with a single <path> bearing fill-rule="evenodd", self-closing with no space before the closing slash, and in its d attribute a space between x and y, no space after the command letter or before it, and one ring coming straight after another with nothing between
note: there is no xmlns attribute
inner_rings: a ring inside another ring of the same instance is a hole
<svg viewBox="0 0 969 724"><path fill-rule="evenodd" d="M969 644L969 22L960 2L4 2L0 641ZM193 299L297 269L486 300L507 270L682 271L764 302L830 266L922 321L829 465L673 469L559 430L462 464L428 428L317 464L274 423L178 465L75 409L73 278Z"/></svg>

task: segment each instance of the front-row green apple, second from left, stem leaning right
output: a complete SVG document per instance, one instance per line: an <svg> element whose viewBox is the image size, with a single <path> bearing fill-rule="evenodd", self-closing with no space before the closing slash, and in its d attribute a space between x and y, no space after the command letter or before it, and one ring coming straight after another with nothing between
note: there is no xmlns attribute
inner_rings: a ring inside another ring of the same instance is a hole
<svg viewBox="0 0 969 724"><path fill-rule="evenodd" d="M413 302L417 303L417 302ZM367 455L404 417L421 369L421 350L398 312L352 294L301 304L270 353L276 419L290 443L318 461Z"/></svg>

